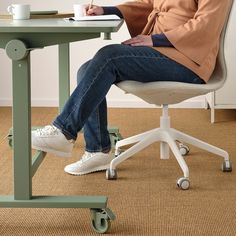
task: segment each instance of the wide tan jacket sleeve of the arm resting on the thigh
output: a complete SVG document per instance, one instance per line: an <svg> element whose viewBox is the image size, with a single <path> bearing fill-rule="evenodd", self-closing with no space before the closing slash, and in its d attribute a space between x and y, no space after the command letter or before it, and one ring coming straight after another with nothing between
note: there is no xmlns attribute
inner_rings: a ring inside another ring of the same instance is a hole
<svg viewBox="0 0 236 236"><path fill-rule="evenodd" d="M231 0L198 0L194 17L164 32L172 45L201 65L219 40Z"/></svg>

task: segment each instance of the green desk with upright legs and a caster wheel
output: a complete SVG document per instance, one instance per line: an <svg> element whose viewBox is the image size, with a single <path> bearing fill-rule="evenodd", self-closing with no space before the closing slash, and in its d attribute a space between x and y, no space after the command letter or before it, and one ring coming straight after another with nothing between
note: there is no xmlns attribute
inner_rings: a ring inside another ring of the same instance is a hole
<svg viewBox="0 0 236 236"><path fill-rule="evenodd" d="M105 233L115 218L105 196L32 196L32 177L46 153L31 156L30 52L59 45L60 109L69 92L69 43L106 38L123 21L69 22L64 19L0 20L0 48L12 60L14 195L0 196L0 207L90 208L92 228Z"/></svg>

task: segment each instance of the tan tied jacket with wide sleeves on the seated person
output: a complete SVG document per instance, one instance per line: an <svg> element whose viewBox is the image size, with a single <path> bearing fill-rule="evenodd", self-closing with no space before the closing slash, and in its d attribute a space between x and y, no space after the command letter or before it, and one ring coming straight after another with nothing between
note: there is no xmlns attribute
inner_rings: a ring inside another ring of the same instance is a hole
<svg viewBox="0 0 236 236"><path fill-rule="evenodd" d="M157 51L207 81L215 66L230 0L141 0L118 5L132 37L164 33Z"/></svg>

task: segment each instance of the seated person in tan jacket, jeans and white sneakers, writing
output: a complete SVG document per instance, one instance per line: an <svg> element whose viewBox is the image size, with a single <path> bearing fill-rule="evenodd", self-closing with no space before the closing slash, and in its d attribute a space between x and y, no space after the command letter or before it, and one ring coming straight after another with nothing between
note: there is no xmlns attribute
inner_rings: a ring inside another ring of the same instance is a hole
<svg viewBox="0 0 236 236"><path fill-rule="evenodd" d="M109 168L106 94L124 80L204 84L213 72L230 0L142 0L116 7L86 7L87 15L124 18L130 39L108 45L83 64L77 87L51 125L32 131L32 147L71 155L83 128L85 152L65 167L83 175Z"/></svg>

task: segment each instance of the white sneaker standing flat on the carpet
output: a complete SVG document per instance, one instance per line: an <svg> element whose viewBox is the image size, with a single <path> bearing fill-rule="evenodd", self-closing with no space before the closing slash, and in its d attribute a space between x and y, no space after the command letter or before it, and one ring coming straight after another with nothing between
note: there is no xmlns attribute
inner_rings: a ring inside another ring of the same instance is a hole
<svg viewBox="0 0 236 236"><path fill-rule="evenodd" d="M85 175L95 171L106 170L110 166L113 157L109 153L85 152L81 160L67 165L64 171L71 175Z"/></svg>

